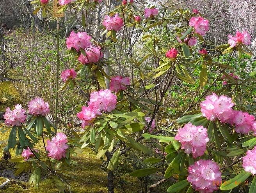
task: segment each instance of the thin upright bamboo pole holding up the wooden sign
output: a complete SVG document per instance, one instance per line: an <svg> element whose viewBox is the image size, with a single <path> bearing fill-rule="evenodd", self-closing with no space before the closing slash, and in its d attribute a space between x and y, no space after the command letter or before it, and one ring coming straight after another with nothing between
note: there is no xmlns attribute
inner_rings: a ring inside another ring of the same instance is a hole
<svg viewBox="0 0 256 193"><path fill-rule="evenodd" d="M59 63L60 63L60 55L59 55L59 39L60 39L60 19L57 18L57 67L56 67L56 92L55 92L55 117L54 117L54 125L57 127L57 119L58 119L58 90L59 90ZM54 129L55 133L57 133L57 129Z"/></svg>

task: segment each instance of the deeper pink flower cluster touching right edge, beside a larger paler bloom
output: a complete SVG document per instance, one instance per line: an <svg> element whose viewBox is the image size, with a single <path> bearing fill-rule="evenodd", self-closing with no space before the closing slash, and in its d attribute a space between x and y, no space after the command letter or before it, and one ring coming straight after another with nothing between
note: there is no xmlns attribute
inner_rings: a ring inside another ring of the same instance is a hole
<svg viewBox="0 0 256 193"><path fill-rule="evenodd" d="M227 123L230 123L230 125L235 124L236 133L246 134L250 130L255 131L254 119L254 116L248 112L233 111Z"/></svg>

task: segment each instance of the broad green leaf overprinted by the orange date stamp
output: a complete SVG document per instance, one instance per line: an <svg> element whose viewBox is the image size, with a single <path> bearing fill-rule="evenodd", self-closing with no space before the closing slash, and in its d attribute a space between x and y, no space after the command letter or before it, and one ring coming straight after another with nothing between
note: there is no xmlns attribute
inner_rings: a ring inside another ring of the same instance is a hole
<svg viewBox="0 0 256 193"><path fill-rule="evenodd" d="M240 174L236 175L236 177L226 181L226 183L223 183L220 186L220 189L221 190L233 189L236 186L240 185L242 182L244 182L250 176L251 176L251 172L241 172Z"/></svg>

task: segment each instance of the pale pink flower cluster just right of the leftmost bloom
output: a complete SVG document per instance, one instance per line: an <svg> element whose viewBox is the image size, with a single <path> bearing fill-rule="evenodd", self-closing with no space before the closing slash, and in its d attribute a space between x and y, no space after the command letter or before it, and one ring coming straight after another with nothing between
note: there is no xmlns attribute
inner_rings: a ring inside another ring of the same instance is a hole
<svg viewBox="0 0 256 193"><path fill-rule="evenodd" d="M46 116L50 112L48 102L44 103L43 98L35 98L28 103L28 113L34 116Z"/></svg>

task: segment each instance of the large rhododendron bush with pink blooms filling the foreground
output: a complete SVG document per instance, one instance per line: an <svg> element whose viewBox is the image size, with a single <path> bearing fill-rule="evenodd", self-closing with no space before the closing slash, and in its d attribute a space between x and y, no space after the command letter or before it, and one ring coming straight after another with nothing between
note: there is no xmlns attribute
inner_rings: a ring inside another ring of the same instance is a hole
<svg viewBox="0 0 256 193"><path fill-rule="evenodd" d="M76 12L82 12L82 7L93 11L99 3L62 1L60 11L68 7ZM253 192L256 107L250 83L256 81L256 73L234 75L230 66L233 58L239 61L242 54L252 55L248 47L251 36L246 31L227 34L226 44L209 50L204 40L209 23L196 9L176 11L164 5L146 8L123 1L103 19L97 41L85 32L86 22L82 19L84 30L72 31L66 39L67 51L62 54L72 56L76 66L61 73L60 87L68 89L69 85L85 98L84 104L76 108L82 135L71 126L70 136L53 126L46 118L49 105L39 97L29 102L30 115L16 105L13 111L7 108L4 116L6 125L12 126L7 149L16 148L22 160L26 157L35 188L43 168L55 175L59 191L67 191L69 184L60 172L62 165L76 165L71 156L93 146L96 158L107 157L111 193L113 171L131 150L140 151L144 155L140 159L151 165L130 175L157 176L148 192L168 180L174 184L167 192L248 188ZM199 44L202 47L197 47ZM223 54L229 54L225 61L220 59ZM116 66L118 74L111 72ZM195 68L200 72L192 75ZM131 77L127 77L127 71ZM96 78L88 81L88 75ZM170 97L169 90L178 82L191 88L190 102L178 119L163 125L158 113ZM44 152L36 150L38 138L44 141Z"/></svg>

